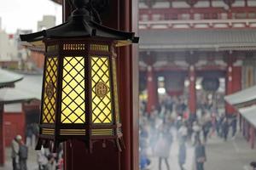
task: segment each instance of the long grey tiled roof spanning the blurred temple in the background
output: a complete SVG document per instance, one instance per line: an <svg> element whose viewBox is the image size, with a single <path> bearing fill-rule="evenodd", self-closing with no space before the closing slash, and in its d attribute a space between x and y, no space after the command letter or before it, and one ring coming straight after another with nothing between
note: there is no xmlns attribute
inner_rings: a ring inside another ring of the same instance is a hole
<svg viewBox="0 0 256 170"><path fill-rule="evenodd" d="M253 50L255 30L141 30L141 50Z"/></svg>

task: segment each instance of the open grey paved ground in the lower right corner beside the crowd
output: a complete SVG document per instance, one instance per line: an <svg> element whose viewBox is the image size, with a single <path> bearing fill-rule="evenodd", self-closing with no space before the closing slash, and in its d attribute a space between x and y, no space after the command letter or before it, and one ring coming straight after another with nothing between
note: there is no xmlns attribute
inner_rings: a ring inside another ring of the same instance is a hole
<svg viewBox="0 0 256 170"><path fill-rule="evenodd" d="M251 170L251 161L256 161L256 150L250 149L241 133L227 142L214 137L207 144L206 170Z"/></svg>

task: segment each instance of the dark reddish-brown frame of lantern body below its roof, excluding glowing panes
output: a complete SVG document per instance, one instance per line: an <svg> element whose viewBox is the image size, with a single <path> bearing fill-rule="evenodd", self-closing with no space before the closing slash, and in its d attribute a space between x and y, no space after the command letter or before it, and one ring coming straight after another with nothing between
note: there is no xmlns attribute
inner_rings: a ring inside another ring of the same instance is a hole
<svg viewBox="0 0 256 170"><path fill-rule="evenodd" d="M40 136L39 136L39 140L38 140L38 145L37 145L37 150L41 149L41 145L43 144L45 147L48 147L49 145L49 141L47 139L54 139L55 144L54 144L54 148L55 146L58 145L58 143L63 142L67 139L80 139L85 141L85 144L88 145L88 147L90 148L90 150L92 150L92 143L96 142L98 140L102 140L103 142L105 140L111 140L113 142L115 142L118 146L118 149L121 150L120 144L119 144L119 139L121 139L122 137L122 133L120 131L120 127L121 127L121 123L117 122L118 120L116 120L116 114L119 114L115 111L116 106L114 104L114 100L115 98L118 98L118 95L114 95L114 82L113 82L113 76L114 75L109 75L109 83L110 83L110 95L112 98L112 102L111 102L111 108L112 108L112 112L113 112L113 124L109 124L109 125L98 125L98 124L93 124L91 116L92 116L92 106L91 106L91 102L89 100L91 99L91 90L93 87L90 87L91 85L91 65L90 65L90 58L91 56L97 55L97 56L104 56L107 57L108 60L108 64L110 67L110 71L109 72L113 72L113 62L115 62L115 60L113 60L113 58L116 58L116 54L114 52L114 48L113 48L113 41L102 41L102 40L90 40L90 38L87 39L68 39L68 40L44 40L45 42L45 61L44 61L44 88L43 88L43 93L42 93L42 107L44 105L44 95L45 93L45 74L46 74L46 69L47 69L47 59L49 58L58 58L58 65L57 67L57 75L56 75L56 84L57 86L55 87L56 89L56 101L55 101L55 123L44 123L42 116L44 115L44 109L42 109L42 114L40 117ZM83 48L81 48L81 50L73 50L74 47L78 47L79 45L81 46L81 44L83 44ZM67 45L67 49L65 49L65 45ZM92 45L107 45L109 48L108 50L91 50L91 46ZM73 47L72 47L73 46ZM55 48L55 50L49 50L49 47L58 47ZM53 57L56 56L56 57ZM84 67L86 69L86 71L84 70L84 72L86 72L87 74L85 74L85 81L87 83L84 84L84 92L86 92L85 96L87 96L87 99L85 99L85 122L84 123L61 123L61 91L62 89L62 71L64 68L63 65L63 59L64 57L67 56L73 56L75 58L75 56L81 56L84 57L84 65L87 65L87 67ZM87 85L87 86L86 86ZM45 130L48 129L48 130ZM50 134L46 134L44 132L49 132L49 129L51 129L51 131L54 130L54 134L50 135ZM84 135L61 135L61 129L74 129L74 130L84 130ZM93 129L112 129L113 130L113 135L93 135L92 130ZM44 131L44 132L43 132ZM118 140L117 140L118 139ZM55 150L55 149L54 149Z"/></svg>

